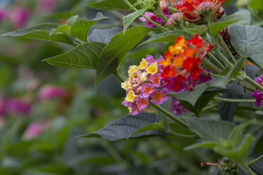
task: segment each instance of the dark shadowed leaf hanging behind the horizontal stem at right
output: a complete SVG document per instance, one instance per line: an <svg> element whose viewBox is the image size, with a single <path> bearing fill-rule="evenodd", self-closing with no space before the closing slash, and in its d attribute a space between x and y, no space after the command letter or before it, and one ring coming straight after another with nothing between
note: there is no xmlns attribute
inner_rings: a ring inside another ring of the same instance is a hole
<svg viewBox="0 0 263 175"><path fill-rule="evenodd" d="M221 97L222 98L229 98L229 99L241 99L243 97L243 95L229 93L229 94L222 94ZM219 105L218 105L220 119L223 121L232 122L238 104L239 103L237 103L237 102L220 101Z"/></svg>

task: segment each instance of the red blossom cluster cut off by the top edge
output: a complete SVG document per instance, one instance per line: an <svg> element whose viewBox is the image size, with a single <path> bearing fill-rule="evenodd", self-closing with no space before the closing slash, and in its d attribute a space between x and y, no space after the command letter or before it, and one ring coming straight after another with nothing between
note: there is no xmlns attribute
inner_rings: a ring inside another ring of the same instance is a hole
<svg viewBox="0 0 263 175"><path fill-rule="evenodd" d="M181 10L184 15L183 18L189 22L196 22L202 20L205 14L210 17L221 18L225 13L220 12L220 7L225 0L184 0L183 4L176 5L177 10Z"/></svg>

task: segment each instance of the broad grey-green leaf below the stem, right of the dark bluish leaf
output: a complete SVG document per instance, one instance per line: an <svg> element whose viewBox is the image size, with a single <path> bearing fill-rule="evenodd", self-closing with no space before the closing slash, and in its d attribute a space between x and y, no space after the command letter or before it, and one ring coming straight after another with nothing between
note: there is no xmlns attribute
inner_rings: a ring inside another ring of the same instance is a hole
<svg viewBox="0 0 263 175"><path fill-rule="evenodd" d="M190 131L205 141L219 142L219 138L227 140L229 133L235 127L232 123L211 119L188 117L185 120L188 123Z"/></svg>

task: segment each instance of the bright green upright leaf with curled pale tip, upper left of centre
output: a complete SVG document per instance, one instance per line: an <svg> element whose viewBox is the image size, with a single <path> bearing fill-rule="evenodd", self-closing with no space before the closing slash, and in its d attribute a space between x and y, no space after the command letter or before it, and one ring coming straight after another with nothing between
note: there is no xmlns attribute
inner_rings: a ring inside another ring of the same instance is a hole
<svg viewBox="0 0 263 175"><path fill-rule="evenodd" d="M108 17L104 17L102 13L98 12L93 20L78 19L70 26L70 32L78 39L87 42L87 35L92 25L105 18Z"/></svg>

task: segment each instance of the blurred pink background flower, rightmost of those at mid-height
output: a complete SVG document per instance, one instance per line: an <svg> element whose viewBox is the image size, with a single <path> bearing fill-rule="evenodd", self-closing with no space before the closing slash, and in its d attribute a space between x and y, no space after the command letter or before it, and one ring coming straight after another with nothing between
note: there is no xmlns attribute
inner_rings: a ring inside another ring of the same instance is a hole
<svg viewBox="0 0 263 175"><path fill-rule="evenodd" d="M67 95L67 90L62 87L46 85L39 91L40 101L47 101L56 97L63 98Z"/></svg>

